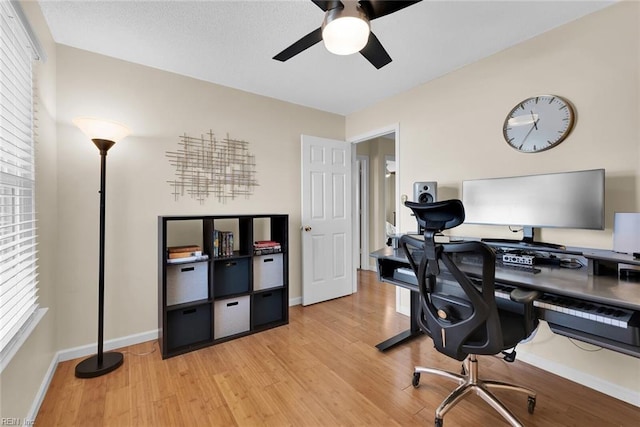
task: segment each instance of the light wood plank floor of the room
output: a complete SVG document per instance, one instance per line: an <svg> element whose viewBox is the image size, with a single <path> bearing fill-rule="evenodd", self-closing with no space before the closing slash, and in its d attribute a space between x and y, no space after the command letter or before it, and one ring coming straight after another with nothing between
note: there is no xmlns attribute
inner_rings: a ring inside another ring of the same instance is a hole
<svg viewBox="0 0 640 427"><path fill-rule="evenodd" d="M455 384L422 376L416 364L459 371L427 337L385 353L375 344L408 327L395 313L395 288L359 274L359 292L290 309L290 324L162 360L157 342L123 349L124 365L77 379L61 363L36 419L39 426L412 426L433 425ZM154 352L149 353L150 351ZM535 413L524 396L497 392L528 426L635 426L640 409L524 362L480 358L480 375L538 391ZM506 425L473 395L446 426Z"/></svg>

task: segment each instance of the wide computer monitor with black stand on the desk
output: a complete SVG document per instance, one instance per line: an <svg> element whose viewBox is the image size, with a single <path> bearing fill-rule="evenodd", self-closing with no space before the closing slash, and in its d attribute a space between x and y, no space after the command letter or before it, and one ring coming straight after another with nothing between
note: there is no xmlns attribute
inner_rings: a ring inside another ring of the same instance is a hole
<svg viewBox="0 0 640 427"><path fill-rule="evenodd" d="M604 229L604 169L463 181L462 203L467 224L523 227L520 241L487 240L562 247L534 229Z"/></svg>

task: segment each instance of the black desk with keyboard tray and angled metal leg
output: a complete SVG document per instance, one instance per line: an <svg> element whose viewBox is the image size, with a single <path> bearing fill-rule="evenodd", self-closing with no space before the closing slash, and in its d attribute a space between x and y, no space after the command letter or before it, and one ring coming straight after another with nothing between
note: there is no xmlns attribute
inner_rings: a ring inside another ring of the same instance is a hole
<svg viewBox="0 0 640 427"><path fill-rule="evenodd" d="M575 254L575 251L572 251ZM584 252L586 254L586 252ZM396 335L378 344L380 351L387 350L395 345L421 335L417 324L419 314L420 296L416 285L393 277L397 268L410 268L402 249L385 247L372 252L371 257L376 258L378 264L378 279L411 290L411 324L409 330ZM614 257L611 257L612 259ZM626 262L626 258L620 262ZM459 264L459 267L473 277L481 276L479 266ZM566 269L558 267L539 267L541 272L533 274L517 270L496 267L496 285L533 289L543 293L564 297L569 300L598 304L612 309L623 309L633 315L630 326L640 330L640 283L619 280L617 276L597 276L588 274L588 268ZM569 314L552 312L542 306L536 308L538 316L547 320L551 330L555 333L569 336L594 345L605 347L614 351L640 358L640 338L634 339L634 343L621 342L610 339L607 334L596 333L593 325L584 322L584 319L576 318L571 327L555 322L557 317L567 317ZM596 325L598 326L598 325ZM640 332L638 332L640 334ZM604 335L604 336L603 336Z"/></svg>

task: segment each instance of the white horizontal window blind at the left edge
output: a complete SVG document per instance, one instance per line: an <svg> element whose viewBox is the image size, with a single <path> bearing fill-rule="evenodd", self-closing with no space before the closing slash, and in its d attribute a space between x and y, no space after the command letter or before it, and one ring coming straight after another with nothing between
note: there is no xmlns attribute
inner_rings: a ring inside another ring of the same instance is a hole
<svg viewBox="0 0 640 427"><path fill-rule="evenodd" d="M0 354L38 309L33 55L14 6L0 2Z"/></svg>

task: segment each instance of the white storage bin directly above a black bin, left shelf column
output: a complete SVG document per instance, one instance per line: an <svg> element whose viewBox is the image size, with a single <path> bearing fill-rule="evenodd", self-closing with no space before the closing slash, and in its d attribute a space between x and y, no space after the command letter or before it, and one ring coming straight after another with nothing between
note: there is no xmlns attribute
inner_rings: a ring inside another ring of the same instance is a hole
<svg viewBox="0 0 640 427"><path fill-rule="evenodd" d="M167 265L167 305L209 298L209 263Z"/></svg>

